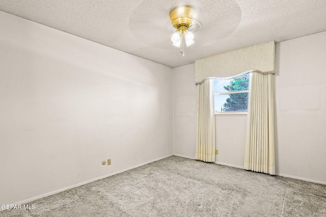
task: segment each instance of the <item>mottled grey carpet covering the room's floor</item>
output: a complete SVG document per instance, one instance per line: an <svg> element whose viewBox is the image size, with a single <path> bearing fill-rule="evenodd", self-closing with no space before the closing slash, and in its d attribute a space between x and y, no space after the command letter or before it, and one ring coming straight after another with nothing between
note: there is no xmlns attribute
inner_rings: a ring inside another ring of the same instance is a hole
<svg viewBox="0 0 326 217"><path fill-rule="evenodd" d="M172 156L1 216L326 216L326 185Z"/></svg>

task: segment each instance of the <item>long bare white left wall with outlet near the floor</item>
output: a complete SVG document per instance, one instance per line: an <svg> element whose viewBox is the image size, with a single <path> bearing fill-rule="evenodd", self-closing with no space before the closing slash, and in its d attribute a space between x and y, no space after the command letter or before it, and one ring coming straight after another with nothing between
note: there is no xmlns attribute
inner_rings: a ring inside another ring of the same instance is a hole
<svg viewBox="0 0 326 217"><path fill-rule="evenodd" d="M173 154L171 68L4 12L0 32L0 204Z"/></svg>

